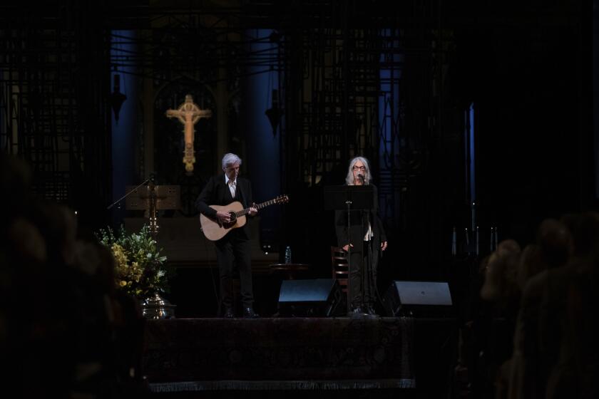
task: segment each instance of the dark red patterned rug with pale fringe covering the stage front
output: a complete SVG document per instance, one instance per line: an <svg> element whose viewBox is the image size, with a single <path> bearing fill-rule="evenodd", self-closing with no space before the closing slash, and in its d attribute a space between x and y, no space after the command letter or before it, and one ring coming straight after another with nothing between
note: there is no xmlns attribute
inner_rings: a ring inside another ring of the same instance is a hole
<svg viewBox="0 0 599 399"><path fill-rule="evenodd" d="M148 320L143 374L155 393L409 390L431 378L445 385L454 324L405 317Z"/></svg>

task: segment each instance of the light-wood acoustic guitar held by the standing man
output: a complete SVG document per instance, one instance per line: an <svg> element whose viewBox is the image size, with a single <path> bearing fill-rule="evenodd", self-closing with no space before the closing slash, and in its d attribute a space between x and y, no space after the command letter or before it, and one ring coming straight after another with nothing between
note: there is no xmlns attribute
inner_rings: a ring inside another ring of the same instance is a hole
<svg viewBox="0 0 599 399"><path fill-rule="evenodd" d="M271 199L267 202L262 202L261 204L255 204L256 209L262 209L272 204L285 204L285 202L289 202L289 197L287 195L281 195L275 199ZM217 218L210 218L205 216L204 214L200 214L200 224L202 225L202 231L207 239L210 241L216 241L217 239L221 239L225 237L228 232L232 229L237 229L237 227L243 227L245 224L245 215L247 212L250 212L250 208L243 208L243 205L239 201L231 202L228 205L210 205L212 209L215 209L216 212L227 212L231 215L231 221L228 223L221 223Z"/></svg>

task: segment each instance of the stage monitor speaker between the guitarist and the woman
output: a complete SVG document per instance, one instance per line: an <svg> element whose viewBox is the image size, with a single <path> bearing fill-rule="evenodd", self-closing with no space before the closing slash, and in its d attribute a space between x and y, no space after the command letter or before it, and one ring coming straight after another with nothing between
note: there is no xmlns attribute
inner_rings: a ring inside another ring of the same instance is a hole
<svg viewBox="0 0 599 399"><path fill-rule="evenodd" d="M279 316L328 317L345 313L336 279L285 280L279 295Z"/></svg>

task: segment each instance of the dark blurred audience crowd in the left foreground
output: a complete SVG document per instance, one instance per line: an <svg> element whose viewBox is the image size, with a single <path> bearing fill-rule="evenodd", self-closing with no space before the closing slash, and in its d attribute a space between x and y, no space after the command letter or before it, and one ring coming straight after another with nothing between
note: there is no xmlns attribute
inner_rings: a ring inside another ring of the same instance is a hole
<svg viewBox="0 0 599 399"><path fill-rule="evenodd" d="M36 199L26 162L0 155L0 373L16 398L140 398L143 323L114 260L72 209Z"/></svg>

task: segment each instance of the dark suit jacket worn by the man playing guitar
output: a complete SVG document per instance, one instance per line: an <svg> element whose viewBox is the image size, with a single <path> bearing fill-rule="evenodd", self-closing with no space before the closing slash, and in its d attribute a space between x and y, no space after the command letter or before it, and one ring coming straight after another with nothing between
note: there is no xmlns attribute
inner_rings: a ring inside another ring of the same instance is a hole
<svg viewBox="0 0 599 399"><path fill-rule="evenodd" d="M228 205L231 202L239 201L244 208L250 207L253 204L250 180L237 176L236 185L234 199L231 197L229 186L225 183L224 174L210 177L204 190L200 192L200 196L195 200L195 207L210 218L216 218L216 211L210 205ZM235 230L241 230L245 237L250 238L250 229L247 227L247 223L240 229ZM223 239L226 237L223 237Z"/></svg>

